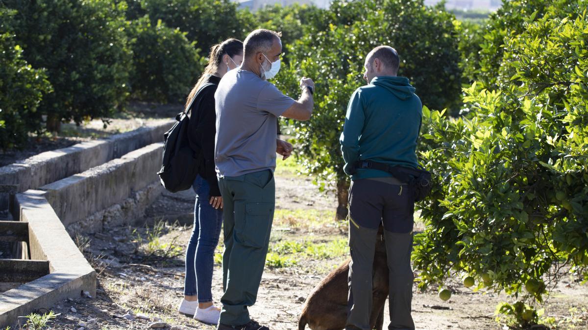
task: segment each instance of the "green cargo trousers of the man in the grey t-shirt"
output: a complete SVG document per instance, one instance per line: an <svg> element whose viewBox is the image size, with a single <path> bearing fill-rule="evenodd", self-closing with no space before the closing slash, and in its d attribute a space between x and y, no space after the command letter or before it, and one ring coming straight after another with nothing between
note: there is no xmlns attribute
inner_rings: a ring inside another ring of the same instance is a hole
<svg viewBox="0 0 588 330"><path fill-rule="evenodd" d="M219 179L223 198L223 289L220 323L243 325L250 321L263 274L276 201L270 170Z"/></svg>

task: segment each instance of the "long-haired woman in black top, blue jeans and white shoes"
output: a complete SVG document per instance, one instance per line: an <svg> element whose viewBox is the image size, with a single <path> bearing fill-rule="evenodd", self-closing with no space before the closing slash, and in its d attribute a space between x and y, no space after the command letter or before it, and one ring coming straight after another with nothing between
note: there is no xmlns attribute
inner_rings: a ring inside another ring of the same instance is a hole
<svg viewBox="0 0 588 330"><path fill-rule="evenodd" d="M217 324L220 309L212 302L212 268L222 225L223 201L215 170L215 92L220 78L243 62L243 43L227 39L212 46L208 66L186 100L190 121L188 141L199 155L198 176L192 188L196 193L194 229L186 250L184 298L178 311L208 324Z"/></svg>

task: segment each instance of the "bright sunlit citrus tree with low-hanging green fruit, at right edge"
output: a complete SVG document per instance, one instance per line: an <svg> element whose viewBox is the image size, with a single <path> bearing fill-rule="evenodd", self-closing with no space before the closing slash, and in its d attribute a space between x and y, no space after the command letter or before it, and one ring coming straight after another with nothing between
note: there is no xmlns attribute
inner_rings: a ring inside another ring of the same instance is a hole
<svg viewBox="0 0 588 330"><path fill-rule="evenodd" d="M436 184L419 204L419 287L465 274L519 298L499 311L523 325L562 270L588 280L587 6L560 4L504 32L499 79L465 89L466 116L423 111L419 157Z"/></svg>

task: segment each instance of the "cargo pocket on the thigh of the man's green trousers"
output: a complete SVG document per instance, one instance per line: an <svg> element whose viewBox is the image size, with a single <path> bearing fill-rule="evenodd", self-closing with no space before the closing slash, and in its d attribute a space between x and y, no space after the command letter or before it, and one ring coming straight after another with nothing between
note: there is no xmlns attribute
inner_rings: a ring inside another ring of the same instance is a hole
<svg viewBox="0 0 588 330"><path fill-rule="evenodd" d="M265 247L272 227L273 203L235 202L235 235L248 247Z"/></svg>

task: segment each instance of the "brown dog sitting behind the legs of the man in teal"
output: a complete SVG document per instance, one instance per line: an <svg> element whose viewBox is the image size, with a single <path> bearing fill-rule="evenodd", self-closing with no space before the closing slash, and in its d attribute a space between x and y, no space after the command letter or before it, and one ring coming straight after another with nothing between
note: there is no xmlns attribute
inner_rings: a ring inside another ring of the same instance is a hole
<svg viewBox="0 0 588 330"><path fill-rule="evenodd" d="M345 261L336 270L330 272L312 290L302 307L298 330L304 330L307 324L312 330L342 330L345 328L349 308L347 298L350 261ZM373 304L370 326L371 329L382 330L384 305L388 297L388 266L381 225L377 233L376 253L373 259L372 285Z"/></svg>

